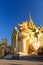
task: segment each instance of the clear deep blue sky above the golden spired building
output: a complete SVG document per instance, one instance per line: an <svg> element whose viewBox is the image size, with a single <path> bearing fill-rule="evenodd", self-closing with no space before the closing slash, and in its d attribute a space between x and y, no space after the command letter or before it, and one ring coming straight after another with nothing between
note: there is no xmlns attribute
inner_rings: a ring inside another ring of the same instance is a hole
<svg viewBox="0 0 43 65"><path fill-rule="evenodd" d="M8 39L14 26L29 19L31 13L34 23L43 26L43 0L0 0L0 40Z"/></svg>

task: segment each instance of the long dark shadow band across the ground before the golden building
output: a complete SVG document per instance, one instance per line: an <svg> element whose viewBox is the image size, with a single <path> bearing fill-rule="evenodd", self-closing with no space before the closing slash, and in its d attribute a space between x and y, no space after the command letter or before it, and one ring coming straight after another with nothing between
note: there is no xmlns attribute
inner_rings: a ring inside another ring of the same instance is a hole
<svg viewBox="0 0 43 65"><path fill-rule="evenodd" d="M21 56L12 58L3 58L6 60L27 60L27 61L40 61L43 62L43 56Z"/></svg>

